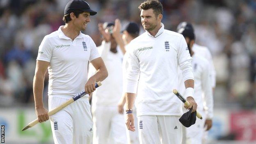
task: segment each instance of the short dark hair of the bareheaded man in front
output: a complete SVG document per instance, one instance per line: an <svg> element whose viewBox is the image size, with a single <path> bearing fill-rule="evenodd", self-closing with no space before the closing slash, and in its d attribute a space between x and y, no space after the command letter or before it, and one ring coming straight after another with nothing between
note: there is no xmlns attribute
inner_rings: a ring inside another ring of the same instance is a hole
<svg viewBox="0 0 256 144"><path fill-rule="evenodd" d="M142 9L148 10L151 8L153 9L155 16L158 16L159 14L163 14L162 4L158 0L146 0L142 4L139 5L140 11Z"/></svg>

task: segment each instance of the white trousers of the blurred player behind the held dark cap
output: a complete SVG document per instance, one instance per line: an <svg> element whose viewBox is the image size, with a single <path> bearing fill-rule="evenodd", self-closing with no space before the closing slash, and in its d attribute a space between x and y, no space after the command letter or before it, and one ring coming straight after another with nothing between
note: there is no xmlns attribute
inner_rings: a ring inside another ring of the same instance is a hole
<svg viewBox="0 0 256 144"><path fill-rule="evenodd" d="M196 123L186 129L186 144L202 144L203 132L205 123L205 112L197 110L202 115L203 119L196 120Z"/></svg>

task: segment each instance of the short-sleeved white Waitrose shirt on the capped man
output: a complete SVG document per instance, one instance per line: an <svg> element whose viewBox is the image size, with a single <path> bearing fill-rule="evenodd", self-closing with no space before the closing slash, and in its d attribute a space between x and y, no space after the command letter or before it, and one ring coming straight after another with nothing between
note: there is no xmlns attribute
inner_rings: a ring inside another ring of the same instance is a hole
<svg viewBox="0 0 256 144"><path fill-rule="evenodd" d="M72 41L61 27L43 38L37 60L50 62L48 95L70 98L85 90L88 61L100 55L91 37L80 32Z"/></svg>

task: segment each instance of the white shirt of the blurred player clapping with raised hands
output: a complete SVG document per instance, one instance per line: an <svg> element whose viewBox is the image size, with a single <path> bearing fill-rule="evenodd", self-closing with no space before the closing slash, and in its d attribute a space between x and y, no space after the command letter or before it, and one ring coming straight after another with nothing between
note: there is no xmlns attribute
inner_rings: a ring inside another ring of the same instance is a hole
<svg viewBox="0 0 256 144"><path fill-rule="evenodd" d="M93 92L92 105L117 106L119 99L122 96L123 76L122 76L122 60L123 53L120 48L117 48L117 53L110 51L110 42L103 41L98 47L98 52L101 54L107 68L108 76Z"/></svg>

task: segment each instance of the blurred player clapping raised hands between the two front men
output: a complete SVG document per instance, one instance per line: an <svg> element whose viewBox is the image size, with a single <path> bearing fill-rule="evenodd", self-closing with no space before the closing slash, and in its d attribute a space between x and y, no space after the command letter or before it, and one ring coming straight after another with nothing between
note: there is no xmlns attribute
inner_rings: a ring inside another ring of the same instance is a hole
<svg viewBox="0 0 256 144"><path fill-rule="evenodd" d="M120 34L121 24L117 19L115 23L100 23L98 28L104 39L98 51L106 64L109 75L102 82L100 89L96 89L92 95L93 143L126 144L125 122L123 115L117 110L123 89L122 60L125 53Z"/></svg>

